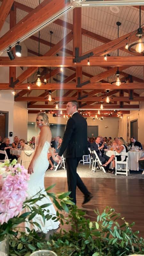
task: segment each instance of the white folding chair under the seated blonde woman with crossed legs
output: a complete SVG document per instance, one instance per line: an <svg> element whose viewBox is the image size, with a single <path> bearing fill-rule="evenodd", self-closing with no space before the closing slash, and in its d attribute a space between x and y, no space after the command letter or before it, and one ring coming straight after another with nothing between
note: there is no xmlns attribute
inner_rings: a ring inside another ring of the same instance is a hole
<svg viewBox="0 0 144 256"><path fill-rule="evenodd" d="M129 173L129 166L128 166L128 152L121 152L120 154L121 156L127 156L126 161L117 161L117 157L115 156L115 164L116 164L116 172L115 175L117 174L126 174L126 176L128 176ZM119 165L120 164L120 165ZM123 169L123 166L121 164L124 164L126 167L125 169ZM119 166L117 166L119 165Z"/></svg>

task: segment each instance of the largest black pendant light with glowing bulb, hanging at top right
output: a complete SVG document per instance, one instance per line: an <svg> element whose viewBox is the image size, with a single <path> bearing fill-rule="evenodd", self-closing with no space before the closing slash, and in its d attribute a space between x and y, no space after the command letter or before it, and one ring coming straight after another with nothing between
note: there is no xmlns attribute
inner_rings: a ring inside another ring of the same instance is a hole
<svg viewBox="0 0 144 256"><path fill-rule="evenodd" d="M136 37L139 37L139 39L136 39L137 42L130 44L130 40L131 40L131 36L137 31L137 33L135 34ZM138 28L138 30L136 30L132 33L132 35L130 36L129 39L129 47L128 50L130 52L144 52L144 40L142 41L141 37L144 36L144 32L143 29L141 28L141 6L140 6L140 26Z"/></svg>

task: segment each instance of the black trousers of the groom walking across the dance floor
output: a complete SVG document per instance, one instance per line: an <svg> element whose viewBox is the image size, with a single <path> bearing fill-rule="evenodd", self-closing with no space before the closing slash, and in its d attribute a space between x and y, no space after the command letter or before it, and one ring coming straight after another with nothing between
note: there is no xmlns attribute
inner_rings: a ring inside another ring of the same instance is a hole
<svg viewBox="0 0 144 256"><path fill-rule="evenodd" d="M66 157L66 166L67 166L67 180L68 180L68 191L71 191L69 195L72 201L76 204L76 186L81 190L84 195L87 195L89 191L84 185L83 181L76 172L77 165L82 157L67 158Z"/></svg>

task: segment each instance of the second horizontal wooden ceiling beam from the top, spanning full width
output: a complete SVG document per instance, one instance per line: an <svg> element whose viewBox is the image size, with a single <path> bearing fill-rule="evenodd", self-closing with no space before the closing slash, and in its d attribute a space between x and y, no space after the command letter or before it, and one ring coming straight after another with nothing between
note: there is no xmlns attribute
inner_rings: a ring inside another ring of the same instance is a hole
<svg viewBox="0 0 144 256"><path fill-rule="evenodd" d="M45 85L41 85L40 87L37 85L30 84L31 89L33 90L77 90L76 83L68 83L68 84L63 84L63 83L47 83ZM16 90L24 90L27 89L28 83L27 84L22 84L22 85L16 85L15 89ZM144 83L126 83L126 84L121 84L120 85L121 89L140 89L144 90ZM9 88L9 83L0 83L0 89L1 90L7 90ZM90 83L89 85L84 85L82 87L78 88L79 90L119 90L119 87L114 84L110 83ZM11 90L11 89L10 89Z"/></svg>

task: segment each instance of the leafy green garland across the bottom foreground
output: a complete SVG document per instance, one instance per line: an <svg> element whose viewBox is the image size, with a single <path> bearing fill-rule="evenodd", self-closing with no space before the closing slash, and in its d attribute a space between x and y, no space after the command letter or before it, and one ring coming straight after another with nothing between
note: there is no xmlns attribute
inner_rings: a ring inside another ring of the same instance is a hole
<svg viewBox="0 0 144 256"><path fill-rule="evenodd" d="M48 190L48 189L47 189ZM51 193L48 193L51 196ZM10 235L10 255L11 256L29 256L30 253L47 249L57 253L58 256L126 256L137 253L144 254L144 239L139 238L137 232L132 231L134 223L127 223L124 218L116 213L114 209L106 207L102 213L94 211L95 221L85 219L81 209L75 205L67 207L71 202L68 198L69 193L61 193L54 195L52 199L57 208L57 220L69 224L69 231L61 229L60 232L54 233L45 239L45 235L38 236L35 230L29 230L29 234L25 232L14 233ZM44 195L43 195L44 196ZM38 195L37 198L43 197ZM39 200L39 199L38 199ZM36 201L36 197L35 197ZM29 201L31 204L31 201ZM71 202L71 204L73 204ZM61 206L68 212L68 216L64 217L61 212ZM36 212L41 214L44 219L49 219L49 212L44 210L44 205L36 208L31 206L28 215L20 217L31 217Z"/></svg>

